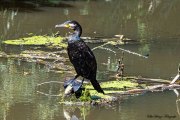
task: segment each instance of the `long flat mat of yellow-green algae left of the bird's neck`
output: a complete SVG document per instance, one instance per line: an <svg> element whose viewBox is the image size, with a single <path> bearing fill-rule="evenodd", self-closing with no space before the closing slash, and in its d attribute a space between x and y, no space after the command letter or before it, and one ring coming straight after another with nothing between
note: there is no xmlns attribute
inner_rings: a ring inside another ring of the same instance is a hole
<svg viewBox="0 0 180 120"><path fill-rule="evenodd" d="M15 40L6 40L3 43L8 45L45 45L65 48L67 47L67 44L63 40L63 37L52 37L44 35L24 37Z"/></svg>

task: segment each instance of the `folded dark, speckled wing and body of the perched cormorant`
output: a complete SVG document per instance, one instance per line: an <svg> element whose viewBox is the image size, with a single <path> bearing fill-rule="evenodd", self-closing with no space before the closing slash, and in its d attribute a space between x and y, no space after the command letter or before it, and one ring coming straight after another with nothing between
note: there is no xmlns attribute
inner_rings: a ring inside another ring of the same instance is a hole
<svg viewBox="0 0 180 120"><path fill-rule="evenodd" d="M91 49L83 42L76 42L68 46L68 55L77 74L89 79L96 76L97 63Z"/></svg>

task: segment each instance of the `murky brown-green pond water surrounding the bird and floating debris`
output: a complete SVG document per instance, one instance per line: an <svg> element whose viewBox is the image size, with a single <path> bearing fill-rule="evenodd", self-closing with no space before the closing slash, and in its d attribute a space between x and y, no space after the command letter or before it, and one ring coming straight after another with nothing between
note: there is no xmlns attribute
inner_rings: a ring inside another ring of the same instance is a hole
<svg viewBox="0 0 180 120"><path fill-rule="evenodd" d="M112 37L124 34L141 44L121 48L146 55L147 59L125 53L125 73L143 77L172 79L180 63L179 0L101 0L62 2L60 7L1 9L0 38L15 39L28 33L57 32L54 25L74 19L83 27L83 36ZM1 6L2 7L2 6ZM59 30L65 35L67 30ZM92 45L91 47L94 47ZM107 46L108 47L108 46ZM13 52L18 48L7 48ZM2 51L8 51L1 48ZM98 80L107 80L117 69L122 51L94 50L98 61ZM17 50L19 51L19 49ZM106 65L105 65L106 64ZM38 94L37 84L63 81L65 75L49 72L35 63L0 58L0 119L2 120L178 120L178 102L173 91L129 97L112 106L70 107L60 105L59 97ZM42 88L58 94L59 85ZM66 118L65 118L66 117ZM69 118L70 119L70 118Z"/></svg>

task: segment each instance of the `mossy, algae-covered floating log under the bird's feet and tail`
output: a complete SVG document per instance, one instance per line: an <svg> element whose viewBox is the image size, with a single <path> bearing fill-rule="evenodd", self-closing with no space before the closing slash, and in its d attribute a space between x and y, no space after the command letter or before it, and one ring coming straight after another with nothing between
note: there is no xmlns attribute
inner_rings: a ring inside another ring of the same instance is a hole
<svg viewBox="0 0 180 120"><path fill-rule="evenodd" d="M114 80L101 82L100 85L105 94L98 93L90 83L85 83L83 85L85 90L82 92L82 96L79 99L76 99L75 96L72 95L68 98L63 98L60 103L65 105L110 104L121 99L121 97L119 97L121 94L117 95L118 93L139 88L138 83L128 79L123 81Z"/></svg>

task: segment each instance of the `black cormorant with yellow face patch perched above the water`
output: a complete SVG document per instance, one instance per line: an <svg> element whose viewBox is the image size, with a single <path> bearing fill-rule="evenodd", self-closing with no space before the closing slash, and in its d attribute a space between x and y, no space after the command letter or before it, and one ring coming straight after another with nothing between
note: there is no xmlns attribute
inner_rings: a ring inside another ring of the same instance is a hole
<svg viewBox="0 0 180 120"><path fill-rule="evenodd" d="M55 27L65 27L74 31L68 37L67 47L69 59L74 65L77 73L74 80L79 76L83 77L82 83L84 78L89 79L94 89L99 93L104 94L104 91L96 80L97 62L95 56L86 43L80 39L82 34L80 24L76 21L68 20L63 24L56 25Z"/></svg>

